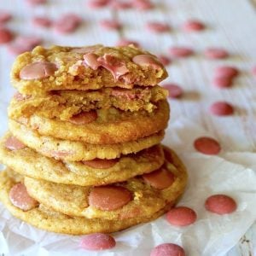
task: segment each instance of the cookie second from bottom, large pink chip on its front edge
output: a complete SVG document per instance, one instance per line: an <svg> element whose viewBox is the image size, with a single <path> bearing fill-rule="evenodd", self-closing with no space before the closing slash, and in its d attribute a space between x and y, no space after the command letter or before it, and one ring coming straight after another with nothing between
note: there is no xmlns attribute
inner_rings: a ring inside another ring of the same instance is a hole
<svg viewBox="0 0 256 256"><path fill-rule="evenodd" d="M32 198L57 212L86 218L124 219L150 216L172 201L174 195L181 195L186 183L183 169L166 161L154 173L157 174L148 173L146 177L101 187L63 185L31 177L25 177L25 185ZM164 179L160 180L161 177ZM155 181L163 183L163 187L155 186Z"/></svg>

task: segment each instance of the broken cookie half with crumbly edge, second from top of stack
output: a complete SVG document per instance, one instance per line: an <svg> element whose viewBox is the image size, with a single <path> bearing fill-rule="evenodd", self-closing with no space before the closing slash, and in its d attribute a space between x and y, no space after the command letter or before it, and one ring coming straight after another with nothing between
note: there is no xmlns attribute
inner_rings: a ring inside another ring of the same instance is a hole
<svg viewBox="0 0 256 256"><path fill-rule="evenodd" d="M136 87L102 88L101 90L59 90L44 96L23 96L16 93L9 105L9 118L29 117L38 113L46 118L67 121L74 115L98 108L119 108L124 111L152 112L155 103L166 99L168 92L156 85L145 89Z"/></svg>

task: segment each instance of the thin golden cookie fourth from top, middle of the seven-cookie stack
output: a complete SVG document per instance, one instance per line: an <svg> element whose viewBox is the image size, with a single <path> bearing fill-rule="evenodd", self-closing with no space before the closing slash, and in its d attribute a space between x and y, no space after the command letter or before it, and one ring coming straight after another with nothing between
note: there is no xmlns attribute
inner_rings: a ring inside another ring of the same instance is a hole
<svg viewBox="0 0 256 256"><path fill-rule="evenodd" d="M150 148L160 143L164 137L164 131L160 131L133 142L93 145L41 136L37 131L32 131L11 119L9 119L9 129L29 148L33 148L45 156L67 161L94 160L96 158L115 159L119 158L121 154L137 153L145 148Z"/></svg>

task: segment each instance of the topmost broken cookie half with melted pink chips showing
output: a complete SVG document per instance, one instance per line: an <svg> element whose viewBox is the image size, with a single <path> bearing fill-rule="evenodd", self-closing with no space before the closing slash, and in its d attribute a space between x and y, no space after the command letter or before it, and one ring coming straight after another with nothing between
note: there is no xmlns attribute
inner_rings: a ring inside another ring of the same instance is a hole
<svg viewBox="0 0 256 256"><path fill-rule="evenodd" d="M102 87L153 86L166 79L165 67L156 56L134 46L38 46L19 55L11 72L20 93L50 90L97 90Z"/></svg>

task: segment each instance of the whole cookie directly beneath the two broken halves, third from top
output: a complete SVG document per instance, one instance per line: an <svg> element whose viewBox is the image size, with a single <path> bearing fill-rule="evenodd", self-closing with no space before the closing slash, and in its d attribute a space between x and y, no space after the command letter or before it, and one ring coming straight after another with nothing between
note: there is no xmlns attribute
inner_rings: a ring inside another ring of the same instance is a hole
<svg viewBox="0 0 256 256"><path fill-rule="evenodd" d="M169 119L168 102L157 102L152 112L121 111L117 108L97 109L69 119L48 119L37 113L18 121L39 134L90 144L114 144L136 141L166 128Z"/></svg>

